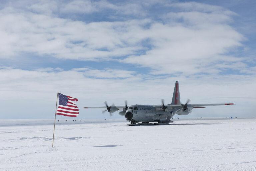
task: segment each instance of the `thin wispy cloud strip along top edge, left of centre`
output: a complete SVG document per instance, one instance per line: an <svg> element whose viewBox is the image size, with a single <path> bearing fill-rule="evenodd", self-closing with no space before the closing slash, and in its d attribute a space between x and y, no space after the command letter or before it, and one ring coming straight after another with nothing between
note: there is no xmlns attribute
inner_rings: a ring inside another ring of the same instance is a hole
<svg viewBox="0 0 256 171"><path fill-rule="evenodd" d="M146 10L144 6L152 6L155 1L141 1L141 2L117 2L111 3L107 0L10 0L5 6L15 7L19 10L29 10L38 14L46 15L63 15L63 14L93 14L101 13L102 11L111 11L112 15L118 16L145 16ZM3 5L4 6L4 5Z"/></svg>

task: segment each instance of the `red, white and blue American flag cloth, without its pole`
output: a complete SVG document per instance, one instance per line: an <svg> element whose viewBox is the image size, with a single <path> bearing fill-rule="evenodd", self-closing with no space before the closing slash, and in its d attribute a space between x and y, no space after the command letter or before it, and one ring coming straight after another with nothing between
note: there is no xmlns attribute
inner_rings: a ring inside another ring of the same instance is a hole
<svg viewBox="0 0 256 171"><path fill-rule="evenodd" d="M79 110L75 102L77 102L78 100L70 96L65 96L61 93L59 93L58 95L59 106L56 115L77 117L79 114Z"/></svg>

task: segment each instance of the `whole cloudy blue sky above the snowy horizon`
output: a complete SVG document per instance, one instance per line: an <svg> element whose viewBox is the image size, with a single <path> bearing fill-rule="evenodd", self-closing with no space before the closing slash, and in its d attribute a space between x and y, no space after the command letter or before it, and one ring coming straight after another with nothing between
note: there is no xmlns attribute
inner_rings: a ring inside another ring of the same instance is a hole
<svg viewBox="0 0 256 171"><path fill-rule="evenodd" d="M183 103L236 104L186 117L255 116L255 7L252 0L2 0L0 118L54 118L59 91L78 98L76 119L125 119L82 107L167 104L175 81Z"/></svg>

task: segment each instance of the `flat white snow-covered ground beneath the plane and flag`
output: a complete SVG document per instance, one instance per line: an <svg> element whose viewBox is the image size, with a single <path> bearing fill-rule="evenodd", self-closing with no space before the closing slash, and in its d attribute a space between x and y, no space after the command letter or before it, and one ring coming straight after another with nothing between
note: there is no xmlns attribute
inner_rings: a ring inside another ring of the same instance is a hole
<svg viewBox="0 0 256 171"><path fill-rule="evenodd" d="M0 120L0 170L256 171L255 118L127 123Z"/></svg>

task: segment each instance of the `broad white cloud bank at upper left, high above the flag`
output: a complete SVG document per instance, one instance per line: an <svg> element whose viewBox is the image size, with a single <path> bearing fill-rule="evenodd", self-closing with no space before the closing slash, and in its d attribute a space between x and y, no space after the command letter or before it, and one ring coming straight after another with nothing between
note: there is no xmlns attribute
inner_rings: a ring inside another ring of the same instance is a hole
<svg viewBox="0 0 256 171"><path fill-rule="evenodd" d="M137 53L145 47L131 31L141 30L149 20L84 23L13 8L0 11L0 57L20 53L51 55L62 59L97 60ZM100 42L100 43L99 43Z"/></svg>

